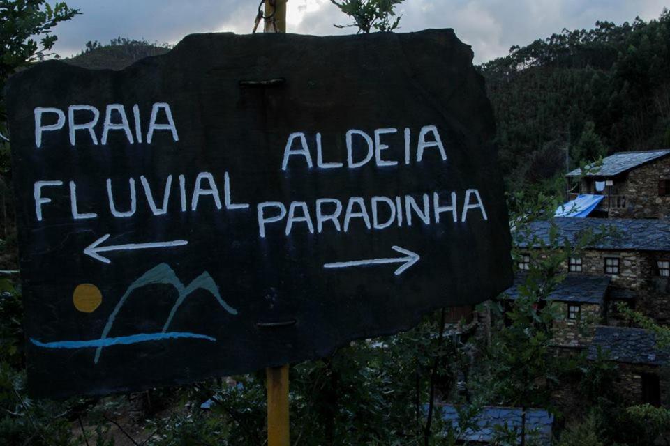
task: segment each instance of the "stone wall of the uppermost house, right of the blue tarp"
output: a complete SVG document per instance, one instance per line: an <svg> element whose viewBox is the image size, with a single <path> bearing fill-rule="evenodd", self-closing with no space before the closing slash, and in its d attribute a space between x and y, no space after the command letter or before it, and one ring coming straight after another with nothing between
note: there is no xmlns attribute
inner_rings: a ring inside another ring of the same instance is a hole
<svg viewBox="0 0 670 446"><path fill-rule="evenodd" d="M658 181L670 179L670 157L628 171L615 180L617 193L626 197L626 207L611 209L611 218L670 218L670 195L659 197Z"/></svg>

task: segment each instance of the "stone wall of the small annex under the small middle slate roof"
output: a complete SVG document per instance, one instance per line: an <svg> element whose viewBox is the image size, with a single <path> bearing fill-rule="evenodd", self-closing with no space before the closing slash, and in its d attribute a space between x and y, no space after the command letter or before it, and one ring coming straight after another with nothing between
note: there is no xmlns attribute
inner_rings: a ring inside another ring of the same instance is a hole
<svg viewBox="0 0 670 446"><path fill-rule="evenodd" d="M588 347L591 339L593 339L593 332L595 325L602 323L602 309L597 304L579 304L580 317L576 320L567 318L567 310L569 305L576 305L568 302L557 302L564 311L563 319L554 321L553 323L553 340L557 346L560 347Z"/></svg>

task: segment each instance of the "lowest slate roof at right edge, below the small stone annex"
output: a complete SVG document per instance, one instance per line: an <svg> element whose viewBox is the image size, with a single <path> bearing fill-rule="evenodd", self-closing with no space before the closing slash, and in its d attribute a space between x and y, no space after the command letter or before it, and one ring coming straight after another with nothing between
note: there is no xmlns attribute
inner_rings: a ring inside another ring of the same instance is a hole
<svg viewBox="0 0 670 446"><path fill-rule="evenodd" d="M668 349L656 347L655 334L641 328L597 327L588 347L588 359L597 358L598 346L608 359L627 364L663 365L670 358Z"/></svg>

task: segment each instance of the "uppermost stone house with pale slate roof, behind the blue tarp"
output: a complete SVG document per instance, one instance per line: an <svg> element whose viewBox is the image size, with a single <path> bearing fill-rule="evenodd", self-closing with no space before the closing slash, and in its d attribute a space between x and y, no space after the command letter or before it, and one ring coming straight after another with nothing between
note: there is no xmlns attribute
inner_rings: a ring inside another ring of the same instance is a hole
<svg viewBox="0 0 670 446"><path fill-rule="evenodd" d="M567 178L579 194L600 199L591 217L670 217L670 149L614 153L602 166L592 164L585 174L575 169Z"/></svg>

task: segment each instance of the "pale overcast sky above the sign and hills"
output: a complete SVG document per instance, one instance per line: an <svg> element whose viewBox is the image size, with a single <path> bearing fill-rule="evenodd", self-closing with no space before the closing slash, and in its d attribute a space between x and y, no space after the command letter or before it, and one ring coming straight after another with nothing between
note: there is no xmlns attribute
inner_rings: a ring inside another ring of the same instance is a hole
<svg viewBox="0 0 670 446"><path fill-rule="evenodd" d="M59 24L56 51L70 56L88 40L108 43L123 36L151 42L177 43L190 33L232 31L251 33L256 0L67 0L82 15ZM405 0L399 32L454 28L472 45L475 62L504 56L512 45L563 28L590 28L596 20L617 24L658 17L670 1L661 0ZM330 0L289 0L288 32L301 34L353 33L336 29L348 17Z"/></svg>

